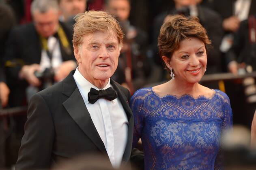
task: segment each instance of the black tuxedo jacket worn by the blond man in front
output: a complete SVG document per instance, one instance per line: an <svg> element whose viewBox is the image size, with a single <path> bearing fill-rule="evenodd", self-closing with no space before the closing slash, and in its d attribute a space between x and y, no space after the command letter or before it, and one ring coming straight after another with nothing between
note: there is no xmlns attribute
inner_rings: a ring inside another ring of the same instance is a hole
<svg viewBox="0 0 256 170"><path fill-rule="evenodd" d="M61 159L80 154L108 155L73 73L31 98L16 169L49 168ZM128 103L130 94L112 79L110 84L116 90L129 121L123 155L123 163L126 163L131 155L133 136L133 115Z"/></svg>

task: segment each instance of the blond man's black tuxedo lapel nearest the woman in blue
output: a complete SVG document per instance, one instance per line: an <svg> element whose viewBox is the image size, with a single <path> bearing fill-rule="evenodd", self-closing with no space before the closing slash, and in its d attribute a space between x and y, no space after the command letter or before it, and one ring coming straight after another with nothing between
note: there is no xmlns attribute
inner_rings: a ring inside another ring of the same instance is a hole
<svg viewBox="0 0 256 170"><path fill-rule="evenodd" d="M128 162L131 156L131 149L132 149L132 137L133 137L133 114L128 102L128 96L125 96L124 92L118 87L118 84L110 79L110 84L116 90L118 94L118 99L123 105L125 113L127 115L129 125L128 125L128 135L127 135L127 144L125 146L125 152L123 154L123 162Z"/></svg>

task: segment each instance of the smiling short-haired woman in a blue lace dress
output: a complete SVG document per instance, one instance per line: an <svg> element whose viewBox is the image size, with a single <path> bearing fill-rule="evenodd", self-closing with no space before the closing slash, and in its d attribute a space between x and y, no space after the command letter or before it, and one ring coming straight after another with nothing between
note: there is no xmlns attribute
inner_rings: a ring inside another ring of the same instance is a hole
<svg viewBox="0 0 256 170"><path fill-rule="evenodd" d="M172 79L132 96L133 146L142 139L145 169L220 168L221 132L232 127L228 96L200 85L206 30L196 17L174 15L161 27L159 53Z"/></svg>

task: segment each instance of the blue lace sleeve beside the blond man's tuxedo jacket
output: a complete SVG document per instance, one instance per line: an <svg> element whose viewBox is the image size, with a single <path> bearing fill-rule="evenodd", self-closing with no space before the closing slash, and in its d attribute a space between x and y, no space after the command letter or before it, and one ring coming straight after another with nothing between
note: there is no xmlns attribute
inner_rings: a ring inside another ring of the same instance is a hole
<svg viewBox="0 0 256 170"><path fill-rule="evenodd" d="M135 94L131 97L130 106L134 117L133 147L136 147L136 144L141 137L141 131L143 127L143 100L141 98L140 90L136 91Z"/></svg>

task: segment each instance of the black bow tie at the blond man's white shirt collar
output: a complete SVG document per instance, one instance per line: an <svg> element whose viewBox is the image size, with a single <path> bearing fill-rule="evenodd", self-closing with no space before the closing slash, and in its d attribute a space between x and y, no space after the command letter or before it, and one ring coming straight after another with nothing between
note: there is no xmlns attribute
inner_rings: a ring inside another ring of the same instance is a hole
<svg viewBox="0 0 256 170"><path fill-rule="evenodd" d="M99 98L105 98L107 100L114 100L117 98L116 91L112 89L112 87L109 87L105 90L96 90L94 88L90 88L90 92L88 93L88 101L91 104L94 104L97 102Z"/></svg>

